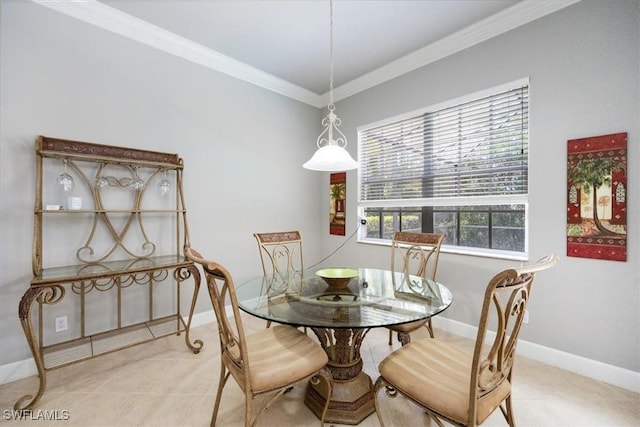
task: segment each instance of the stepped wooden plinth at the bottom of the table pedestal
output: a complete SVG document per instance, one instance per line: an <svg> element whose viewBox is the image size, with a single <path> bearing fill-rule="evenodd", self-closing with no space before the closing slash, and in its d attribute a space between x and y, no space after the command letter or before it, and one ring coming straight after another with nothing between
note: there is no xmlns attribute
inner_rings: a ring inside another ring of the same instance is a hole
<svg viewBox="0 0 640 427"><path fill-rule="evenodd" d="M313 385L309 382L304 403L318 418L327 401L327 390L322 382ZM324 418L325 423L360 424L375 412L373 401L373 385L371 378L360 372L353 379L334 380L333 396L329 401L329 409Z"/></svg>

